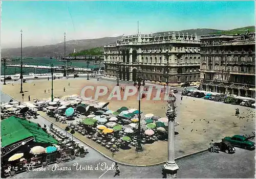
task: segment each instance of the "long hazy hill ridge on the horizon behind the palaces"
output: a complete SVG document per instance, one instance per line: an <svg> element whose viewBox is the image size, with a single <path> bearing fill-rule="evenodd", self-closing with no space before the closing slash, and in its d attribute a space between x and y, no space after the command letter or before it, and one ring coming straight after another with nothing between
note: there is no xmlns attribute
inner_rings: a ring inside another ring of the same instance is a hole
<svg viewBox="0 0 256 179"><path fill-rule="evenodd" d="M188 33L195 34L197 33L199 38L202 35L208 34L244 34L245 30L249 30L249 32L255 32L254 26L243 27L233 30L217 30L217 29L189 29L182 31L175 31L175 33ZM167 32L158 32L154 34L168 34L168 32L172 33L173 31ZM103 45L109 43L115 43L119 37L104 37L99 39L84 39L84 40L70 40L66 42L66 55L71 54L76 49L76 52L81 52L82 50L100 47L103 48ZM55 57L55 56L63 56L64 55L64 42L57 43L54 45L45 45L45 46L28 46L23 48L23 56L24 57ZM20 56L20 48L4 48L2 49L2 57L19 57Z"/></svg>

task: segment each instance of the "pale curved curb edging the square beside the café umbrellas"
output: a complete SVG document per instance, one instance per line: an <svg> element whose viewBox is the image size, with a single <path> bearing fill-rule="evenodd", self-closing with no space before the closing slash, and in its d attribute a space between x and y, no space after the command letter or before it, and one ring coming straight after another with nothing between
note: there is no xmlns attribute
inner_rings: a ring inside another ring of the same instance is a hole
<svg viewBox="0 0 256 179"><path fill-rule="evenodd" d="M2 91L2 93L4 93L4 92ZM6 94L6 93L4 93L4 94ZM11 97L11 98L13 98L13 97L10 96L9 94L6 94L6 95L9 96L9 97ZM16 101L18 101L18 100L15 99L15 98L13 98L13 99L16 100ZM22 103L22 104L23 104L23 103ZM41 115L40 115L40 116L41 116ZM51 120L47 119L46 117L44 117L44 116L41 116L41 117L42 117L42 118L45 118L45 119L48 120L49 122L53 123ZM53 124L54 124L54 123L53 123ZM54 125L56 125L56 124L54 124ZM65 129L63 129L62 127L60 127L60 126L58 126L58 125L56 125L56 126L59 127L61 130L65 131ZM69 132L68 132L68 133L69 133ZM71 133L69 133L69 134L72 135ZM80 140L80 141L83 142L84 144L88 145L88 146L91 147L92 149L96 150L96 151L99 152L99 154L101 154L103 157L105 157L105 158L107 158L107 159L109 159L109 160L111 160L111 161L113 161L113 162L117 162L117 163L119 163L119 164L122 164L122 165L126 165L126 166L137 166L137 167L150 167L150 166L155 166L155 165L164 164L164 163L167 162L167 161L163 161L163 162L159 162L159 163L156 163L156 164L150 164L150 165L135 165L135 164L126 164L126 163L118 162L118 161L116 161L116 160L110 158L109 156L106 156L106 155L103 154L101 151L97 150L95 147L89 145L88 143L84 142L83 140L79 139L78 137L76 137L76 136L74 136L74 135L73 135L73 137L76 138L76 139L78 139L78 140ZM185 157L197 155L197 154L200 154L200 153L205 152L205 151L207 151L207 150L208 150L208 148L207 148L207 149L204 149L204 150L196 151L196 152L193 152L193 153L191 153L191 154L187 154L187 155L184 155L184 156L181 156L181 157L177 157L177 158L175 158L175 160L180 160L180 159L183 159L183 158L185 158Z"/></svg>

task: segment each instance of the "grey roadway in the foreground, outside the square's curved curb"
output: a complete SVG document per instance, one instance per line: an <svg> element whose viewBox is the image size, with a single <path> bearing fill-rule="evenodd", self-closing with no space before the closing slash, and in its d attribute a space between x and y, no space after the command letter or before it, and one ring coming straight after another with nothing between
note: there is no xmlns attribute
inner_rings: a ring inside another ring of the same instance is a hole
<svg viewBox="0 0 256 179"><path fill-rule="evenodd" d="M1 102L9 101L10 97L1 92ZM41 126L51 124L47 119L38 116L31 119L32 122ZM56 125L54 125L57 127ZM58 128L58 127L57 127ZM61 129L60 129L61 130ZM62 130L61 130L62 131ZM65 132L65 131L62 131ZM68 134L71 137L70 134ZM113 162L103 157L99 152L87 146L83 142L76 140L80 145L89 148L89 154L85 158L77 157L73 161L60 164L52 164L44 170L38 168L37 171L19 173L14 178L113 178L115 170L111 167ZM152 154L153 155L153 154ZM201 154L185 157L176 160L180 169L179 178L254 178L255 173L255 151L236 148L235 154L225 154L224 152L210 153L208 151ZM115 156L114 156L115 158ZM77 164L76 164L77 163ZM74 166L77 165L77 166ZM81 168L79 168L81 165ZM96 168L98 165L98 168ZM106 167L108 166L108 167ZM150 167L126 166L119 164L119 178L162 178L163 165Z"/></svg>

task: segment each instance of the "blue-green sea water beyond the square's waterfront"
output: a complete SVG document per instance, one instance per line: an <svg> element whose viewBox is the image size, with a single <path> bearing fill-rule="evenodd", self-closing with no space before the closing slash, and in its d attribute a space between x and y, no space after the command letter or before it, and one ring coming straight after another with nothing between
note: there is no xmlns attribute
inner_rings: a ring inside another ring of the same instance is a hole
<svg viewBox="0 0 256 179"><path fill-rule="evenodd" d="M103 67L103 64L94 64L93 61L89 61L89 68L99 68ZM62 66L64 65L64 62L62 61L57 61L56 59L50 59L50 58L24 58L23 63L25 65L42 65L42 66L50 66L53 64L54 67L56 66ZM20 60L17 61L7 61L7 65L14 65L14 64L19 64L20 65ZM78 67L78 68L87 68L87 61L71 61L69 64L70 67ZM29 73L35 73L35 68L23 68L24 74L29 74ZM6 75L12 75L20 73L20 68L19 67L6 67ZM50 69L36 69L36 73L50 73ZM4 75L4 63L1 63L1 75Z"/></svg>

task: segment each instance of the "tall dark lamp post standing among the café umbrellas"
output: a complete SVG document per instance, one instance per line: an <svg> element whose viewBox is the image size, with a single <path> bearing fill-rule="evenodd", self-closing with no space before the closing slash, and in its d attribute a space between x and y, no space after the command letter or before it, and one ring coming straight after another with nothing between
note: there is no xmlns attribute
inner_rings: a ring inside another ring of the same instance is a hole
<svg viewBox="0 0 256 179"><path fill-rule="evenodd" d="M140 99L141 99L141 93L140 93L140 86L141 86L141 71L138 72L137 74L137 78L138 78L138 91L139 91L139 124L138 124L138 137L137 137L137 146L136 146L136 151L143 151L143 148L141 146L141 130L140 130Z"/></svg>

